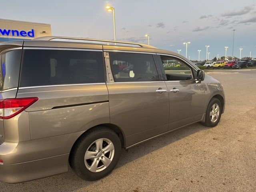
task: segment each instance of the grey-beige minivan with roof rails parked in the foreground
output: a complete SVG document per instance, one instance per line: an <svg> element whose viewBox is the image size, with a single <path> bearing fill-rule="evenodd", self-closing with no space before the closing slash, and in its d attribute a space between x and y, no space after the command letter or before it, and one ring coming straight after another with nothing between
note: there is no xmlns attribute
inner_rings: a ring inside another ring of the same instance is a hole
<svg viewBox="0 0 256 192"><path fill-rule="evenodd" d="M0 44L0 97L0 180L10 183L68 164L98 180L122 148L196 122L216 126L225 108L220 82L180 54L58 36Z"/></svg>

